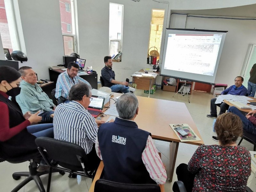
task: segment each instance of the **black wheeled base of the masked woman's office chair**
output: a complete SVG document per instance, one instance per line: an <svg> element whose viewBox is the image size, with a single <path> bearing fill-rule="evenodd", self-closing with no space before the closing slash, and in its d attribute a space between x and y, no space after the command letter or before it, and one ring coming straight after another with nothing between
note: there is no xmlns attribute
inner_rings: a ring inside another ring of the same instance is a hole
<svg viewBox="0 0 256 192"><path fill-rule="evenodd" d="M26 161L30 161L29 163L29 166L28 166L28 169L29 169L29 172L15 172L12 174L12 178L14 180L19 180L21 176L23 177L27 177L25 180L23 180L19 185L17 185L13 190L12 192L17 192L19 191L22 187L24 187L29 181L31 180L34 180L37 187L38 187L38 190L40 192L45 192L45 189L44 189L44 185L42 183L42 180L40 179L40 176L41 175L45 175L45 174L48 174L49 172L37 172L36 171L36 168L37 168L37 163L36 161L40 161L41 157L39 157L40 154L37 153L37 154L31 154L31 157L28 158L28 156L26 157L20 157L19 159L8 159L8 162L9 163L13 163L13 164L17 164L17 163L23 163L23 162L26 162ZM0 163L1 162L4 162L5 159L4 158L0 158ZM39 163L39 162L38 162ZM54 172L59 172L59 171L54 171ZM61 175L64 175L65 172L60 172Z"/></svg>

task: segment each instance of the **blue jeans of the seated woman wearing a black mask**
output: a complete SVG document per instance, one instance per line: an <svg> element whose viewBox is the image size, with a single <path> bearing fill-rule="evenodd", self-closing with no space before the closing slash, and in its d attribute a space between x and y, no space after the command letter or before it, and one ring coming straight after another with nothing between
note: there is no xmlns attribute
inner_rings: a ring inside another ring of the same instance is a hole
<svg viewBox="0 0 256 192"><path fill-rule="evenodd" d="M30 125L30 126L27 126L27 130L30 134L36 137L54 138L52 123Z"/></svg>

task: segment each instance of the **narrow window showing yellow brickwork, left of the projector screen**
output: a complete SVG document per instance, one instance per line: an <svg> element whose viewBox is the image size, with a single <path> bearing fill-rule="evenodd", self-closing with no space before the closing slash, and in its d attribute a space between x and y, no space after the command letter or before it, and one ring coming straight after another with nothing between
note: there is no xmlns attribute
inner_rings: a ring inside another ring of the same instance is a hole
<svg viewBox="0 0 256 192"><path fill-rule="evenodd" d="M150 47L156 47L159 54L162 41L163 24L164 10L152 9L148 49ZM150 50L153 50L153 48Z"/></svg>

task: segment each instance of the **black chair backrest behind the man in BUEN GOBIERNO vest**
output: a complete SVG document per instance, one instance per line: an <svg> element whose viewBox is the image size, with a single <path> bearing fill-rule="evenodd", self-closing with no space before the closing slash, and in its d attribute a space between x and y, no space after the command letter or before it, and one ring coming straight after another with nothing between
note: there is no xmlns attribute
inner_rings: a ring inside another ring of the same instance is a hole
<svg viewBox="0 0 256 192"><path fill-rule="evenodd" d="M161 192L160 187L156 184L127 184L118 183L108 180L97 180L94 192Z"/></svg>

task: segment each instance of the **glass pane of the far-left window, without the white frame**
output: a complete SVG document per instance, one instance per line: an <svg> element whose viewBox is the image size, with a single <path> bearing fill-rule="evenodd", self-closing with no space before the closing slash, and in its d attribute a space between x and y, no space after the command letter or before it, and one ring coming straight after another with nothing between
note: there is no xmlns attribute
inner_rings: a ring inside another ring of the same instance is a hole
<svg viewBox="0 0 256 192"><path fill-rule="evenodd" d="M0 0L0 33L3 47L9 49L10 53L12 53L12 42L6 16L4 0Z"/></svg>

